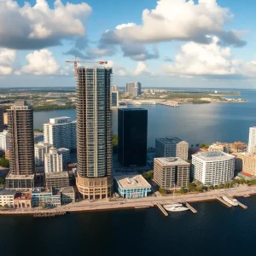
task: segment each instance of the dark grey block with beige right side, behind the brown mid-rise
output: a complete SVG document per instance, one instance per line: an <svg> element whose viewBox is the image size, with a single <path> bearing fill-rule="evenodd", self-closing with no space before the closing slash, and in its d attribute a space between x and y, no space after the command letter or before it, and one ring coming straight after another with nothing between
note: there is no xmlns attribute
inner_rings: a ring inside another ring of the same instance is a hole
<svg viewBox="0 0 256 256"><path fill-rule="evenodd" d="M178 137L155 139L155 157L179 157L188 160L189 143Z"/></svg>

